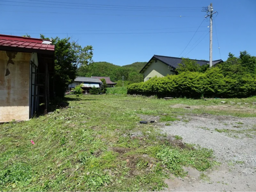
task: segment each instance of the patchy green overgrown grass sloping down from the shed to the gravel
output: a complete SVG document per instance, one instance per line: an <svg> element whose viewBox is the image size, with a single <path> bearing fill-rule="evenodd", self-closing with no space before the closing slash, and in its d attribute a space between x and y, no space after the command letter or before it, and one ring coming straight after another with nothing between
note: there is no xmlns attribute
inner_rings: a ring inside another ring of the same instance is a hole
<svg viewBox="0 0 256 192"><path fill-rule="evenodd" d="M186 175L183 166L204 171L215 165L211 150L174 147L154 125L138 123L138 114L174 114L162 116L172 121L187 110L170 105L211 101L115 95L66 99L69 108L0 125L0 191L161 190L170 173Z"/></svg>

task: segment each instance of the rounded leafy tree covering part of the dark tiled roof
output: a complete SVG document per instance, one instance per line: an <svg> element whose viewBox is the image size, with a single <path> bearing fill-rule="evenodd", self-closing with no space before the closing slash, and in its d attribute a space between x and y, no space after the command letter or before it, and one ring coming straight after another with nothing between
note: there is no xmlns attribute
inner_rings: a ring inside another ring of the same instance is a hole
<svg viewBox="0 0 256 192"><path fill-rule="evenodd" d="M189 71L199 72L201 71L201 67L195 60L191 60L189 58L182 58L182 61L180 64L178 64L178 67L176 70L178 73L189 72Z"/></svg>

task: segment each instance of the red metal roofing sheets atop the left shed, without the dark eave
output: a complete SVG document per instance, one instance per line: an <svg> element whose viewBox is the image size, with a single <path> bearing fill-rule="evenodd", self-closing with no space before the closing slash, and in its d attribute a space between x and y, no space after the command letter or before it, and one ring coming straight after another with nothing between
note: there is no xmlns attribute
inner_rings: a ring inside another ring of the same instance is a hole
<svg viewBox="0 0 256 192"><path fill-rule="evenodd" d="M43 42L46 42L43 44ZM21 47L28 49L42 49L54 51L54 45L47 44L49 40L45 39L36 39L36 38L27 38L13 35L1 35L0 34L0 46L7 47Z"/></svg>

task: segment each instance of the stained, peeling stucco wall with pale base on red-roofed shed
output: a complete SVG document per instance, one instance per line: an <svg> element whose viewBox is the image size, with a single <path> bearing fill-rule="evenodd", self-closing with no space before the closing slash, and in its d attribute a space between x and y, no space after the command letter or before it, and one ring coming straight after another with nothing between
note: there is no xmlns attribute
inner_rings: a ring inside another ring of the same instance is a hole
<svg viewBox="0 0 256 192"><path fill-rule="evenodd" d="M29 119L31 53L0 51L0 122Z"/></svg>

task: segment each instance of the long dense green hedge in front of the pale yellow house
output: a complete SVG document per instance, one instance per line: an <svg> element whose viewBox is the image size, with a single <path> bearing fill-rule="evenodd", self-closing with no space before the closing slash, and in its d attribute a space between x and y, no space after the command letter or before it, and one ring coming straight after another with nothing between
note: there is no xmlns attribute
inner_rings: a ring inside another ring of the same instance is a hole
<svg viewBox="0 0 256 192"><path fill-rule="evenodd" d="M130 84L128 94L158 97L248 97L256 94L256 79L249 74L224 76L218 67L205 73L184 72Z"/></svg>

